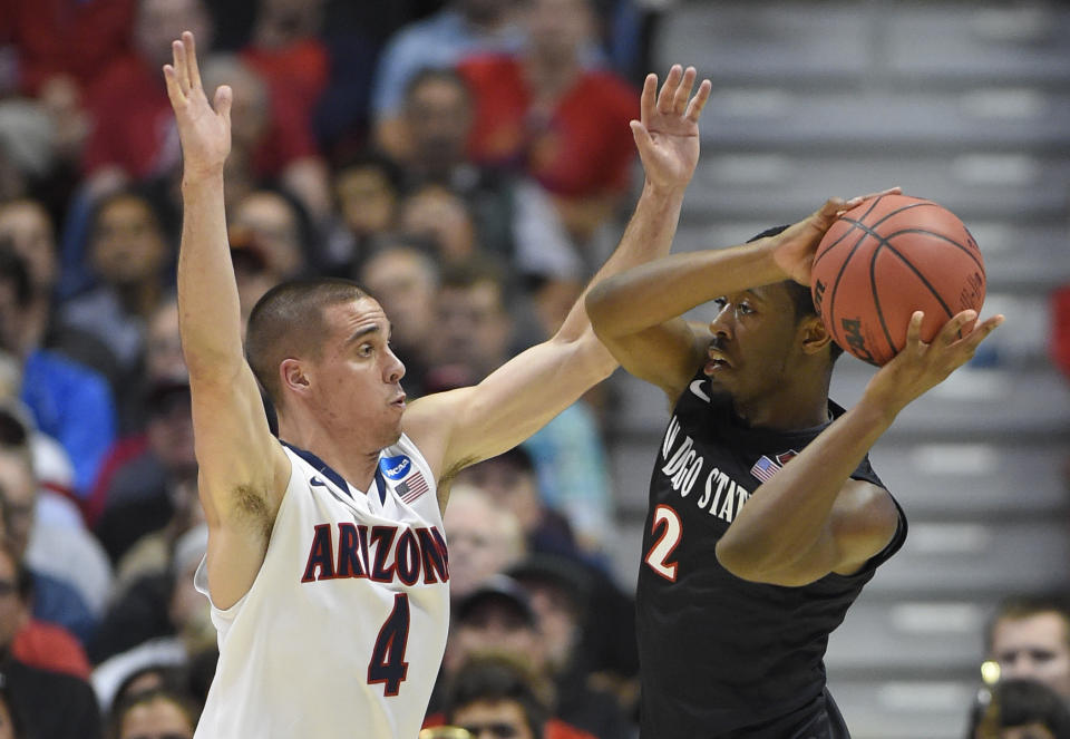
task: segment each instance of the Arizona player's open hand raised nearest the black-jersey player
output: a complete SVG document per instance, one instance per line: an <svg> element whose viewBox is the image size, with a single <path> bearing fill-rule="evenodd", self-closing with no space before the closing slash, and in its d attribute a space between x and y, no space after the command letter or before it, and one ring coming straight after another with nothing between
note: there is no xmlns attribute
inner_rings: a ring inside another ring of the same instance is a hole
<svg viewBox="0 0 1070 739"><path fill-rule="evenodd" d="M691 96L697 72L674 65L658 91L658 75L646 75L640 98L640 119L632 135L643 162L648 184L682 192L699 162L699 118L710 98L710 80L703 79Z"/></svg>

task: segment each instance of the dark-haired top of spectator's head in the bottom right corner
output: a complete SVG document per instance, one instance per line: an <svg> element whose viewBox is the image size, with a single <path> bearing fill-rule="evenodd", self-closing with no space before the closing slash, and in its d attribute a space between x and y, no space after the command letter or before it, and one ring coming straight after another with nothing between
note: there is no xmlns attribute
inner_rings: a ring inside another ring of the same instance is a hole
<svg viewBox="0 0 1070 739"><path fill-rule="evenodd" d="M1070 709L1033 680L1000 681L973 717L967 739L1070 739Z"/></svg>

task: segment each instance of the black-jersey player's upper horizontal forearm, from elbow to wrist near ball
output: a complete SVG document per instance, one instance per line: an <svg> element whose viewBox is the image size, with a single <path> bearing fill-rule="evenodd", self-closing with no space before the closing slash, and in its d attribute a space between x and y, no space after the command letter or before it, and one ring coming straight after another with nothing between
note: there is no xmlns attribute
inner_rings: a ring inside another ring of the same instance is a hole
<svg viewBox="0 0 1070 739"><path fill-rule="evenodd" d="M658 325L719 295L786 280L772 261L775 240L672 254L592 288L586 305L600 334L622 337Z"/></svg>

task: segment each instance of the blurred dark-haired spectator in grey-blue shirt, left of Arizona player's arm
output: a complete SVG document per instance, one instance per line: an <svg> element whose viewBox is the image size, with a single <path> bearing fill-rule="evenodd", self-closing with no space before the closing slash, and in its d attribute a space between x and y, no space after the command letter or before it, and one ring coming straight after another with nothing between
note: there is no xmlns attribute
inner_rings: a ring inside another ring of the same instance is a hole
<svg viewBox="0 0 1070 739"><path fill-rule="evenodd" d="M118 387L129 387L142 371L145 322L163 300L165 274L174 262L153 203L126 191L103 198L88 259L97 285L65 303L59 315L108 348L118 366Z"/></svg>

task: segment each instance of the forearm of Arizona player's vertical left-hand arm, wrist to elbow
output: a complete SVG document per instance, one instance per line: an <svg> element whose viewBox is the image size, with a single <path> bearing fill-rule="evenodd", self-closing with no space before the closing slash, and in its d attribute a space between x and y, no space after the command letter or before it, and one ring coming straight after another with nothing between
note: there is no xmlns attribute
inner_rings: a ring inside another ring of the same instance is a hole
<svg viewBox="0 0 1070 739"><path fill-rule="evenodd" d="M222 173L184 179L182 195L178 311L183 352L192 375L225 376L244 359Z"/></svg>

